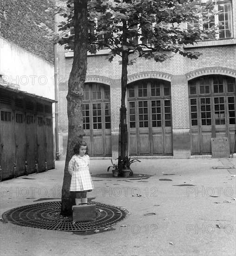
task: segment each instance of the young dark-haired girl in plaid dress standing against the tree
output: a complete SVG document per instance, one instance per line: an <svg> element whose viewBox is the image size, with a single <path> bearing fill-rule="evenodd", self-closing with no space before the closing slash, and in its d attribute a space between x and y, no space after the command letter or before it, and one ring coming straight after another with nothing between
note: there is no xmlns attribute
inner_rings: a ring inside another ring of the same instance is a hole
<svg viewBox="0 0 236 256"><path fill-rule="evenodd" d="M86 203L87 192L94 189L92 178L89 173L90 158L85 141L79 141L74 147L75 155L72 156L68 171L72 175L70 191L75 191L75 204Z"/></svg>

